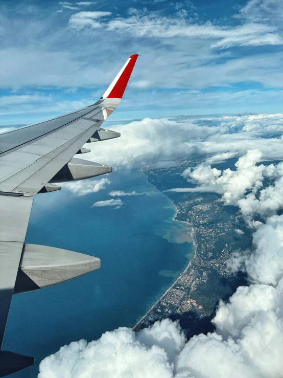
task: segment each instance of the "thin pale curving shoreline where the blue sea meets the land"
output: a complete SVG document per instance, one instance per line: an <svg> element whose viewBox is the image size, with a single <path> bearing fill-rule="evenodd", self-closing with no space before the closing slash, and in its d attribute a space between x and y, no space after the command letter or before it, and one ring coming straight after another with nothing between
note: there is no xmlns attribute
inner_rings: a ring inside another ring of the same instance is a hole
<svg viewBox="0 0 283 378"><path fill-rule="evenodd" d="M153 185L153 184L152 184ZM156 187L155 187L156 188ZM156 188L157 189L157 188ZM160 193L162 193L159 189L157 189ZM172 201L171 198L169 198L166 194L162 193L164 196L166 196L170 202L172 203L172 205L174 206L175 210L176 210L176 214L174 215L174 217L172 218L172 220L176 221L176 222L180 222L180 223L185 223L186 225L190 225L192 227L192 230L191 230L191 236L192 236L192 243L193 243L193 248L194 248L194 256L191 258L191 260L188 262L186 268L184 269L184 271L176 278L176 280L170 285L170 287L166 290L166 292L164 292L161 297L158 298L158 300L149 308L149 310L146 312L146 314L139 319L139 321L133 326L133 330L135 331L135 328L141 323L143 322L143 320L148 316L148 314L151 312L151 310L156 306L156 304L161 301L166 295L167 293L172 289L172 287L177 283L177 281L187 272L187 270L190 268L190 265L191 265L191 262L197 258L199 258L198 256L198 242L197 242L197 238L196 238L196 228L195 228L195 225L191 222L187 222L187 221L184 221L184 220L178 220L176 219L180 210L178 208L178 206ZM201 260L202 262L202 260ZM201 265L200 265L201 266Z"/></svg>

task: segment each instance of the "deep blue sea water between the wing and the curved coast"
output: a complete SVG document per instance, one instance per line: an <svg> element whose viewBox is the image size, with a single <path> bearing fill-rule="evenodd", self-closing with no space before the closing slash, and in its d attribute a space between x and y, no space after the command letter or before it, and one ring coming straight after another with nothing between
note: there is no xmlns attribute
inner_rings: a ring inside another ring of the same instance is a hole
<svg viewBox="0 0 283 378"><path fill-rule="evenodd" d="M36 377L39 362L65 344L133 326L192 257L190 228L172 220L173 205L146 175L107 177L111 184L97 193L74 196L63 188L35 197L26 242L100 257L102 268L13 297L4 349L36 358L15 378ZM111 190L146 194L121 197L119 209L92 207Z"/></svg>

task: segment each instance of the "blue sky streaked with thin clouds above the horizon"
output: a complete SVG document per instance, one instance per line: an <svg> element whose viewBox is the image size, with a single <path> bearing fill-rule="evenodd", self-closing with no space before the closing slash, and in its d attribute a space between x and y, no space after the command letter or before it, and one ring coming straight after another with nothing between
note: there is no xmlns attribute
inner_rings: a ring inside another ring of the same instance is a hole
<svg viewBox="0 0 283 378"><path fill-rule="evenodd" d="M113 120L282 112L279 0L3 1L0 124L97 100L140 57Z"/></svg>

